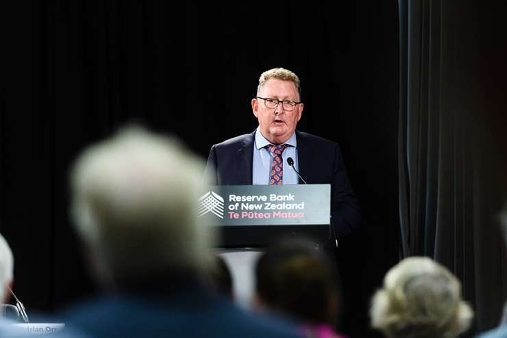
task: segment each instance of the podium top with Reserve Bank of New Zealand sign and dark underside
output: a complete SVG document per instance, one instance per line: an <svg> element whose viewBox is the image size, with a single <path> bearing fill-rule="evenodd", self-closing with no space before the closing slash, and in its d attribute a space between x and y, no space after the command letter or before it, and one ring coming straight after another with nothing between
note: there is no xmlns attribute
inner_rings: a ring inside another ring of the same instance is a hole
<svg viewBox="0 0 507 338"><path fill-rule="evenodd" d="M262 248L282 234L330 238L330 184L210 186L199 217L217 226L219 248Z"/></svg>

